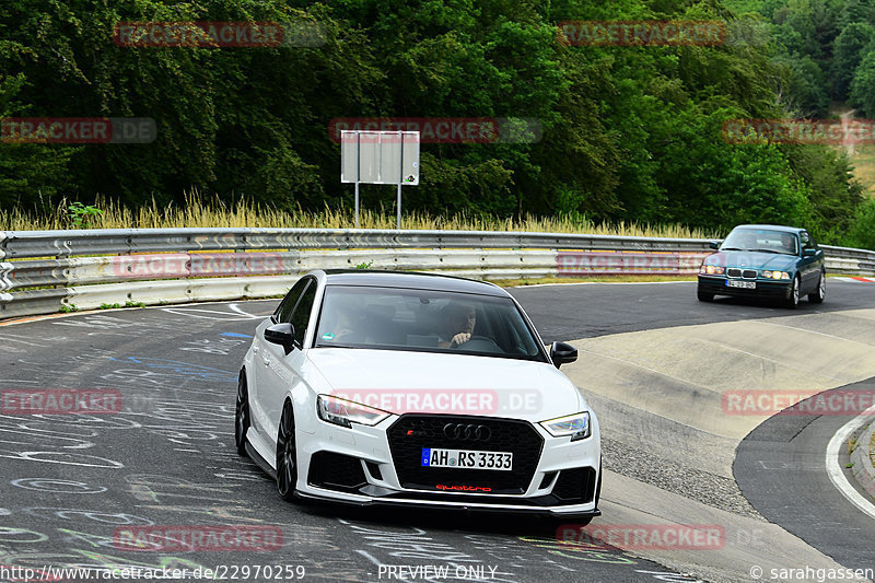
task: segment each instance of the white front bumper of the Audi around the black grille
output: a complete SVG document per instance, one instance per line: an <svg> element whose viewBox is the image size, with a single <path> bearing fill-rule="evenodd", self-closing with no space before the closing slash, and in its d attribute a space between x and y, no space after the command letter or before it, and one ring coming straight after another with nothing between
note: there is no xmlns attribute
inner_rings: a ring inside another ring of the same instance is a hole
<svg viewBox="0 0 875 583"><path fill-rule="evenodd" d="M399 466L393 457L389 439L389 429L399 419L393 416L377 427L354 425L353 429L319 421L314 433L296 431L298 495L359 506L417 506L562 517L600 514L596 508L602 457L597 421L593 422L590 438L573 443L570 438L552 438L539 425L529 424L533 433L537 432L544 443L530 471L520 474L523 485L521 493L509 495L448 491L458 486L447 488L445 485L458 485L457 478L465 475L466 470L457 468L433 468L435 474L430 485L409 487L408 483L405 487L404 470L399 478ZM446 416L447 421L457 419ZM482 422L489 422L489 418L481 419ZM474 445L458 448L467 447ZM483 450L487 447L488 444ZM401 455L397 445L396 455ZM516 471L516 459L514 468L512 471ZM474 488L488 483L479 481L468 485ZM580 495L576 495L578 492Z"/></svg>

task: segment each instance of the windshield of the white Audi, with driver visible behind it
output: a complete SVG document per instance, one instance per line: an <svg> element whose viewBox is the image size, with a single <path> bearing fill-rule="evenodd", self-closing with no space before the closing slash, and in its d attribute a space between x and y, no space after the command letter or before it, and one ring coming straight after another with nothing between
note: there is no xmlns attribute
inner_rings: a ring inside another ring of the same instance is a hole
<svg viewBox="0 0 875 583"><path fill-rule="evenodd" d="M510 298L431 290L327 285L314 346L547 362Z"/></svg>

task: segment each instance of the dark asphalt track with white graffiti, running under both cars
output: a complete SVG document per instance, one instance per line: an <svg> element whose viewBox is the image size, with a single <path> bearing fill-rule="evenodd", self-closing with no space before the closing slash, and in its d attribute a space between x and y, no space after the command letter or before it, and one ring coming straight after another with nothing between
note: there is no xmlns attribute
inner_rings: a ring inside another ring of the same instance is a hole
<svg viewBox="0 0 875 583"><path fill-rule="evenodd" d="M693 288L597 284L513 293L546 341L789 313L744 302L701 304ZM806 303L798 313L875 305L875 285L837 282L829 294L824 305ZM559 545L551 523L282 502L272 482L233 450L240 362L276 303L114 311L0 327L0 388L117 389L122 398L117 415L0 416L0 580L15 579L3 579L10 565L226 565L220 571L228 579L290 580L302 571L278 576L278 570L291 565L303 568L305 580L380 581L389 580L387 565L398 564L445 565L450 580L467 581L692 580L618 549ZM281 548L119 546L148 528L210 525L281 533ZM276 574L265 576L264 567ZM422 574L404 580L422 581Z"/></svg>

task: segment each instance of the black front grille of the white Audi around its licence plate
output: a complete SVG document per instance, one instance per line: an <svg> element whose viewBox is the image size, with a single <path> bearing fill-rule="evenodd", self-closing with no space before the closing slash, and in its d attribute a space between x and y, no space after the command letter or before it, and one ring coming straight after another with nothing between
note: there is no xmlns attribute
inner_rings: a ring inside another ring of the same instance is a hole
<svg viewBox="0 0 875 583"><path fill-rule="evenodd" d="M438 490L440 483L489 488L490 494L525 493L544 448L544 439L530 423L486 417L404 415L389 428L388 440L402 488ZM423 467L423 447L510 452L513 469Z"/></svg>

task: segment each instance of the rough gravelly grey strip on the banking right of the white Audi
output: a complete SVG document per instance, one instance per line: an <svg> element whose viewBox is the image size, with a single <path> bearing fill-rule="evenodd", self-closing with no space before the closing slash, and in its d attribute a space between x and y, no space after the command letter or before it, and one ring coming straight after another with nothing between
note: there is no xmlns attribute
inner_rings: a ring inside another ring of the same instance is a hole
<svg viewBox="0 0 875 583"><path fill-rule="evenodd" d="M602 463L605 469L690 500L739 516L766 521L745 499L735 480L680 465L632 443L606 439L603 435Z"/></svg>

